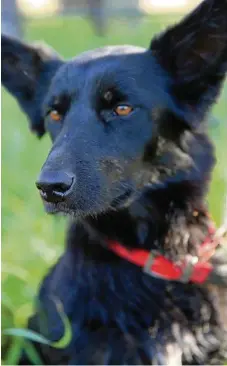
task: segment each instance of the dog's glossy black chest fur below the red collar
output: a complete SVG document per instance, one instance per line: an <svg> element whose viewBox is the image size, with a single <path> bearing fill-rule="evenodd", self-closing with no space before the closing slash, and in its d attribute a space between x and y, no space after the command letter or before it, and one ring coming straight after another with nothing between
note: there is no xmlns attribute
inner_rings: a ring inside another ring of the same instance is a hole
<svg viewBox="0 0 227 366"><path fill-rule="evenodd" d="M73 334L62 352L42 349L46 363L177 365L183 358L187 364L207 364L216 351L220 357L223 331L212 292L152 278L74 224L40 300L44 315L33 317L30 326L59 340L64 334L60 301Z"/></svg>

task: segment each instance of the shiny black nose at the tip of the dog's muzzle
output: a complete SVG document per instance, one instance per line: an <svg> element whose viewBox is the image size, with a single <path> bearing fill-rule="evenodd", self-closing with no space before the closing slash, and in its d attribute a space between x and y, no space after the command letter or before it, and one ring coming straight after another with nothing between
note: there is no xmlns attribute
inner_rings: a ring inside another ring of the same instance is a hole
<svg viewBox="0 0 227 366"><path fill-rule="evenodd" d="M42 172L36 186L45 201L57 203L67 197L74 180L74 176L64 172Z"/></svg>

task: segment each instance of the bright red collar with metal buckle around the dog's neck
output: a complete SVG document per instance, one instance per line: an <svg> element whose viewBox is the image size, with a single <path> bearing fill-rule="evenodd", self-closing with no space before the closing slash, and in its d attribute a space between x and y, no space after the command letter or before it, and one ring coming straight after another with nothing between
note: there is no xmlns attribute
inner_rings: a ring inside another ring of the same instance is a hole
<svg viewBox="0 0 227 366"><path fill-rule="evenodd" d="M188 255L181 263L171 262L161 254L143 249L127 249L117 241L108 240L108 248L119 257L142 267L151 276L169 281L193 282L202 284L206 282L213 266L209 262L214 254L219 240L215 237L215 228L210 226L209 233L202 243L198 256Z"/></svg>

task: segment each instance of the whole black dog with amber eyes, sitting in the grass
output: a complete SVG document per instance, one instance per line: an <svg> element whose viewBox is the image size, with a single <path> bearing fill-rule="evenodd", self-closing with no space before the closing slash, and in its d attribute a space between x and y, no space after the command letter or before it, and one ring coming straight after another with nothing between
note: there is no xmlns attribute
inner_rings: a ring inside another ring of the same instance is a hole
<svg viewBox="0 0 227 366"><path fill-rule="evenodd" d="M58 299L72 339L61 351L37 346L43 362L223 362L225 330L212 291L190 274L183 283L163 272L170 274L167 259L197 258L212 236L204 202L214 156L205 121L227 70L227 0L204 1L148 50L106 47L65 62L6 37L2 49L3 84L32 130L54 142L37 187L48 212L73 216L66 251L29 322L60 339ZM164 278L127 260L149 251L167 258L156 270Z"/></svg>

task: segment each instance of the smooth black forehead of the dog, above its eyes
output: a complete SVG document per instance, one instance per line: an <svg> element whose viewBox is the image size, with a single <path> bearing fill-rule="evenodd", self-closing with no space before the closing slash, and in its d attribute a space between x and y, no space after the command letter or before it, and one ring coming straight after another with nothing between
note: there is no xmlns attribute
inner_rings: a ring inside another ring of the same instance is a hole
<svg viewBox="0 0 227 366"><path fill-rule="evenodd" d="M152 99L167 98L163 70L149 50L136 46L109 46L84 52L66 62L55 75L46 104L60 94L93 97L97 91L116 88L126 94L138 94L138 89L151 92ZM146 96L147 95L147 96ZM150 100L150 94L145 99Z"/></svg>

